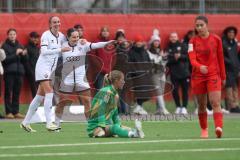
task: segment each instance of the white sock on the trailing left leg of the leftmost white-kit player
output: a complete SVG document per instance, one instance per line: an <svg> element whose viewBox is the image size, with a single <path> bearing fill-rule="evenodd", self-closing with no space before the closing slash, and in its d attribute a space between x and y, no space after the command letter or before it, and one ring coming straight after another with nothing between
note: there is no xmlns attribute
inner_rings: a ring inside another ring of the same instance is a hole
<svg viewBox="0 0 240 160"><path fill-rule="evenodd" d="M37 111L37 108L40 106L44 99L44 96L36 95L32 102L29 105L27 115L25 116L22 124L23 125L28 125L30 123L30 120L32 119L32 116L35 114Z"/></svg>

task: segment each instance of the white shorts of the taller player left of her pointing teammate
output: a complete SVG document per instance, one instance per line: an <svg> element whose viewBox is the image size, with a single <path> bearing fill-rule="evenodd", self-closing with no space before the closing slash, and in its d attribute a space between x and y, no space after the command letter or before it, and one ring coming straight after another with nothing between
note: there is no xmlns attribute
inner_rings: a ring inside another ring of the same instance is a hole
<svg viewBox="0 0 240 160"><path fill-rule="evenodd" d="M35 78L36 81L52 80L54 78L55 69L57 66L58 57L43 57L39 56L36 68Z"/></svg>

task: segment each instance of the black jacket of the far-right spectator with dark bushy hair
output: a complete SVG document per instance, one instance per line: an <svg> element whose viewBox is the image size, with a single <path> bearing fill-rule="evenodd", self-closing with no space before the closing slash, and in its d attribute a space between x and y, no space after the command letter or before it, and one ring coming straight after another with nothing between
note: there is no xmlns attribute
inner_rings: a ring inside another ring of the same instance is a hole
<svg viewBox="0 0 240 160"><path fill-rule="evenodd" d="M240 71L240 62L238 59L238 46L235 40L230 40L223 36L223 53L227 76L232 73L237 76Z"/></svg>

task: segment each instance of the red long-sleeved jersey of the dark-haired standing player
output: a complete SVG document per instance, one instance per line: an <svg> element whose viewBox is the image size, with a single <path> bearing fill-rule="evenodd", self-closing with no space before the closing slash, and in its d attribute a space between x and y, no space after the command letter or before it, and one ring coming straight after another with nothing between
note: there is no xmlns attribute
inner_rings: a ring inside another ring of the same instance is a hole
<svg viewBox="0 0 240 160"><path fill-rule="evenodd" d="M219 75L226 79L222 41L220 37L210 34L207 38L193 37L189 42L188 53L192 64L192 78ZM208 73L202 74L200 66L208 67Z"/></svg>

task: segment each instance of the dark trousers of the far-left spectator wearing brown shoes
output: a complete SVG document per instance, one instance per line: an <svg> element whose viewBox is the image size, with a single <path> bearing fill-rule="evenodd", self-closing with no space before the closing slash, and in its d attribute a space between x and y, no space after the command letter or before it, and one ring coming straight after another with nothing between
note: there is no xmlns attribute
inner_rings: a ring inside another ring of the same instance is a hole
<svg viewBox="0 0 240 160"><path fill-rule="evenodd" d="M6 114L19 113L19 97L22 87L22 75L17 74L5 74L5 93L4 93L4 103Z"/></svg>

